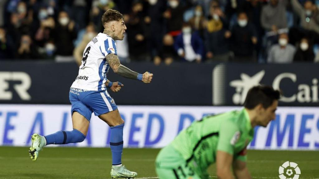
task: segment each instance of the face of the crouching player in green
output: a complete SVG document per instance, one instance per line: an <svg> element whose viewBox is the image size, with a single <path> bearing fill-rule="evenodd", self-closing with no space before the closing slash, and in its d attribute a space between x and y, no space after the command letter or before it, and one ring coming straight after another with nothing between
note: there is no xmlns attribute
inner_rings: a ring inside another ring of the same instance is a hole
<svg viewBox="0 0 319 179"><path fill-rule="evenodd" d="M268 108L262 108L260 111L260 120L258 121L259 124L263 127L267 127L270 121L275 120L276 114L275 111L277 110L278 100L274 100L274 102Z"/></svg>

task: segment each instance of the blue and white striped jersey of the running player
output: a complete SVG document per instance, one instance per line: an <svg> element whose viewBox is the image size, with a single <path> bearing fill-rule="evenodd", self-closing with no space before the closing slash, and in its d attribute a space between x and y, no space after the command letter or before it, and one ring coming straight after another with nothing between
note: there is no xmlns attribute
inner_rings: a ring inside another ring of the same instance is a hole
<svg viewBox="0 0 319 179"><path fill-rule="evenodd" d="M90 91L105 90L106 75L110 65L105 57L116 54L115 41L104 33L99 33L85 47L79 73L71 88Z"/></svg>

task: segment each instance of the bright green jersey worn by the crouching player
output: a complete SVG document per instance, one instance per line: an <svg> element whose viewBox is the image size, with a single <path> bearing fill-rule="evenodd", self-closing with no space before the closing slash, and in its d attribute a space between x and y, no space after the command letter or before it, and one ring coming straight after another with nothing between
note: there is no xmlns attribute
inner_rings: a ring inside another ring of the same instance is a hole
<svg viewBox="0 0 319 179"><path fill-rule="evenodd" d="M171 144L197 173L205 173L218 150L246 161L246 147L253 136L249 115L242 109L206 116L180 132Z"/></svg>

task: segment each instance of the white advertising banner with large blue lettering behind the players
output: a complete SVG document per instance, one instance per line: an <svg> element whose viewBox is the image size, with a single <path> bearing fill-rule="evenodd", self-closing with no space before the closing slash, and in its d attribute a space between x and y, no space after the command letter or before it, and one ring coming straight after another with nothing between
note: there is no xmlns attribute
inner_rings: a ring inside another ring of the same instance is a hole
<svg viewBox="0 0 319 179"><path fill-rule="evenodd" d="M124 126L124 147L164 147L191 122L207 114L239 107L207 106L119 106ZM72 130L70 105L0 105L0 145L29 146L33 133L48 135ZM256 127L251 149L319 149L319 108L278 107L276 119ZM109 126L92 116L89 132L78 147L108 147ZM58 145L51 145L58 146Z"/></svg>

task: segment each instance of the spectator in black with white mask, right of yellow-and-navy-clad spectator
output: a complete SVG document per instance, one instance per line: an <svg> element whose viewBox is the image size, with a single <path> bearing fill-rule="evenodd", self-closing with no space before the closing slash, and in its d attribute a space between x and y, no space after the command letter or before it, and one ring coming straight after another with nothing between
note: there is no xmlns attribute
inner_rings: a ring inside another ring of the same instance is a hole
<svg viewBox="0 0 319 179"><path fill-rule="evenodd" d="M230 41L236 62L256 61L253 55L257 44L257 32L255 26L248 21L246 12L238 13L237 24L231 30Z"/></svg>

